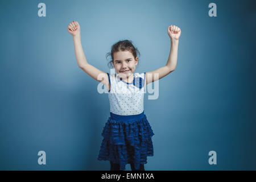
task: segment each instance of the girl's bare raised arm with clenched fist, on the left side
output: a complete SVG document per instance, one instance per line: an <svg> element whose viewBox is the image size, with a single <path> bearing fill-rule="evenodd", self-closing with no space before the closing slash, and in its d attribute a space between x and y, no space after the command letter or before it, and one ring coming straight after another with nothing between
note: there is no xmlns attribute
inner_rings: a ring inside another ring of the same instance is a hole
<svg viewBox="0 0 256 182"><path fill-rule="evenodd" d="M96 67L93 67L93 65L90 65L86 60L84 51L82 50L79 23L76 21L69 23L68 32L73 36L76 60L79 67L94 80L101 82L108 88L108 90L110 90L110 84L107 73L100 71L100 69L97 69Z"/></svg>

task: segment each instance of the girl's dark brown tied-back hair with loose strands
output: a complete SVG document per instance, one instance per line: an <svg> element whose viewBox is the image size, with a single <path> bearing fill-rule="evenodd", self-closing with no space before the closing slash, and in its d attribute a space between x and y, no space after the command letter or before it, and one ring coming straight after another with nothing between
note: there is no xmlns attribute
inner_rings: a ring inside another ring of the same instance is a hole
<svg viewBox="0 0 256 182"><path fill-rule="evenodd" d="M130 51L134 59L137 57L137 55L141 55L139 53L139 50L133 46L133 43L130 40L120 40L119 42L115 43L112 48L111 52L108 52L106 54L106 59L108 60L108 57L111 56L111 61L109 61L108 65L110 64L113 68L113 59L114 59L114 53L118 51ZM112 64L111 64L112 63Z"/></svg>

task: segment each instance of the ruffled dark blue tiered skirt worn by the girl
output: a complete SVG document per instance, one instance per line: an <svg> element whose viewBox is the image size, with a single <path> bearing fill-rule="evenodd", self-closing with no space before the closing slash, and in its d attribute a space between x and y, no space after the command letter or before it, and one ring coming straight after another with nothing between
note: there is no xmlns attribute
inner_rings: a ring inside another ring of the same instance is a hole
<svg viewBox="0 0 256 182"><path fill-rule="evenodd" d="M102 131L98 160L109 160L125 170L126 164L147 163L147 156L153 156L151 137L154 135L144 111L137 115L117 115L110 113Z"/></svg>

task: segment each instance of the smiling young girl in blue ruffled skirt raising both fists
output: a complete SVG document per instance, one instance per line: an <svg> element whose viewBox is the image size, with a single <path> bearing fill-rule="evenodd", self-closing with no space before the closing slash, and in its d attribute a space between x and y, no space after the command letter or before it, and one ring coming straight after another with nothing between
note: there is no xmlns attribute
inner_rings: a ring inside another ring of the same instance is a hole
<svg viewBox="0 0 256 182"><path fill-rule="evenodd" d="M78 22L69 23L68 32L73 36L79 67L109 90L110 117L102 131L104 139L98 160L109 160L110 170L125 170L126 164L130 164L133 171L144 171L147 156L154 155L151 140L154 133L144 114L143 91L150 82L175 70L180 28L173 25L168 27L171 49L167 64L151 72L134 73L138 64L138 50L129 40L115 43L109 55L112 57L110 64L117 75L102 72L87 62L82 50Z"/></svg>

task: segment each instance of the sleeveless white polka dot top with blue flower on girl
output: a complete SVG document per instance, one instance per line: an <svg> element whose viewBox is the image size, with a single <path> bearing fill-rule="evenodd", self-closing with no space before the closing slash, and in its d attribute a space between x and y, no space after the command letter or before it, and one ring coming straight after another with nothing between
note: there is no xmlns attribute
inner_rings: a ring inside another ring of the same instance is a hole
<svg viewBox="0 0 256 182"><path fill-rule="evenodd" d="M134 73L133 82L128 83L118 75L109 75L110 112L118 115L136 115L144 111L144 88L146 73Z"/></svg>

